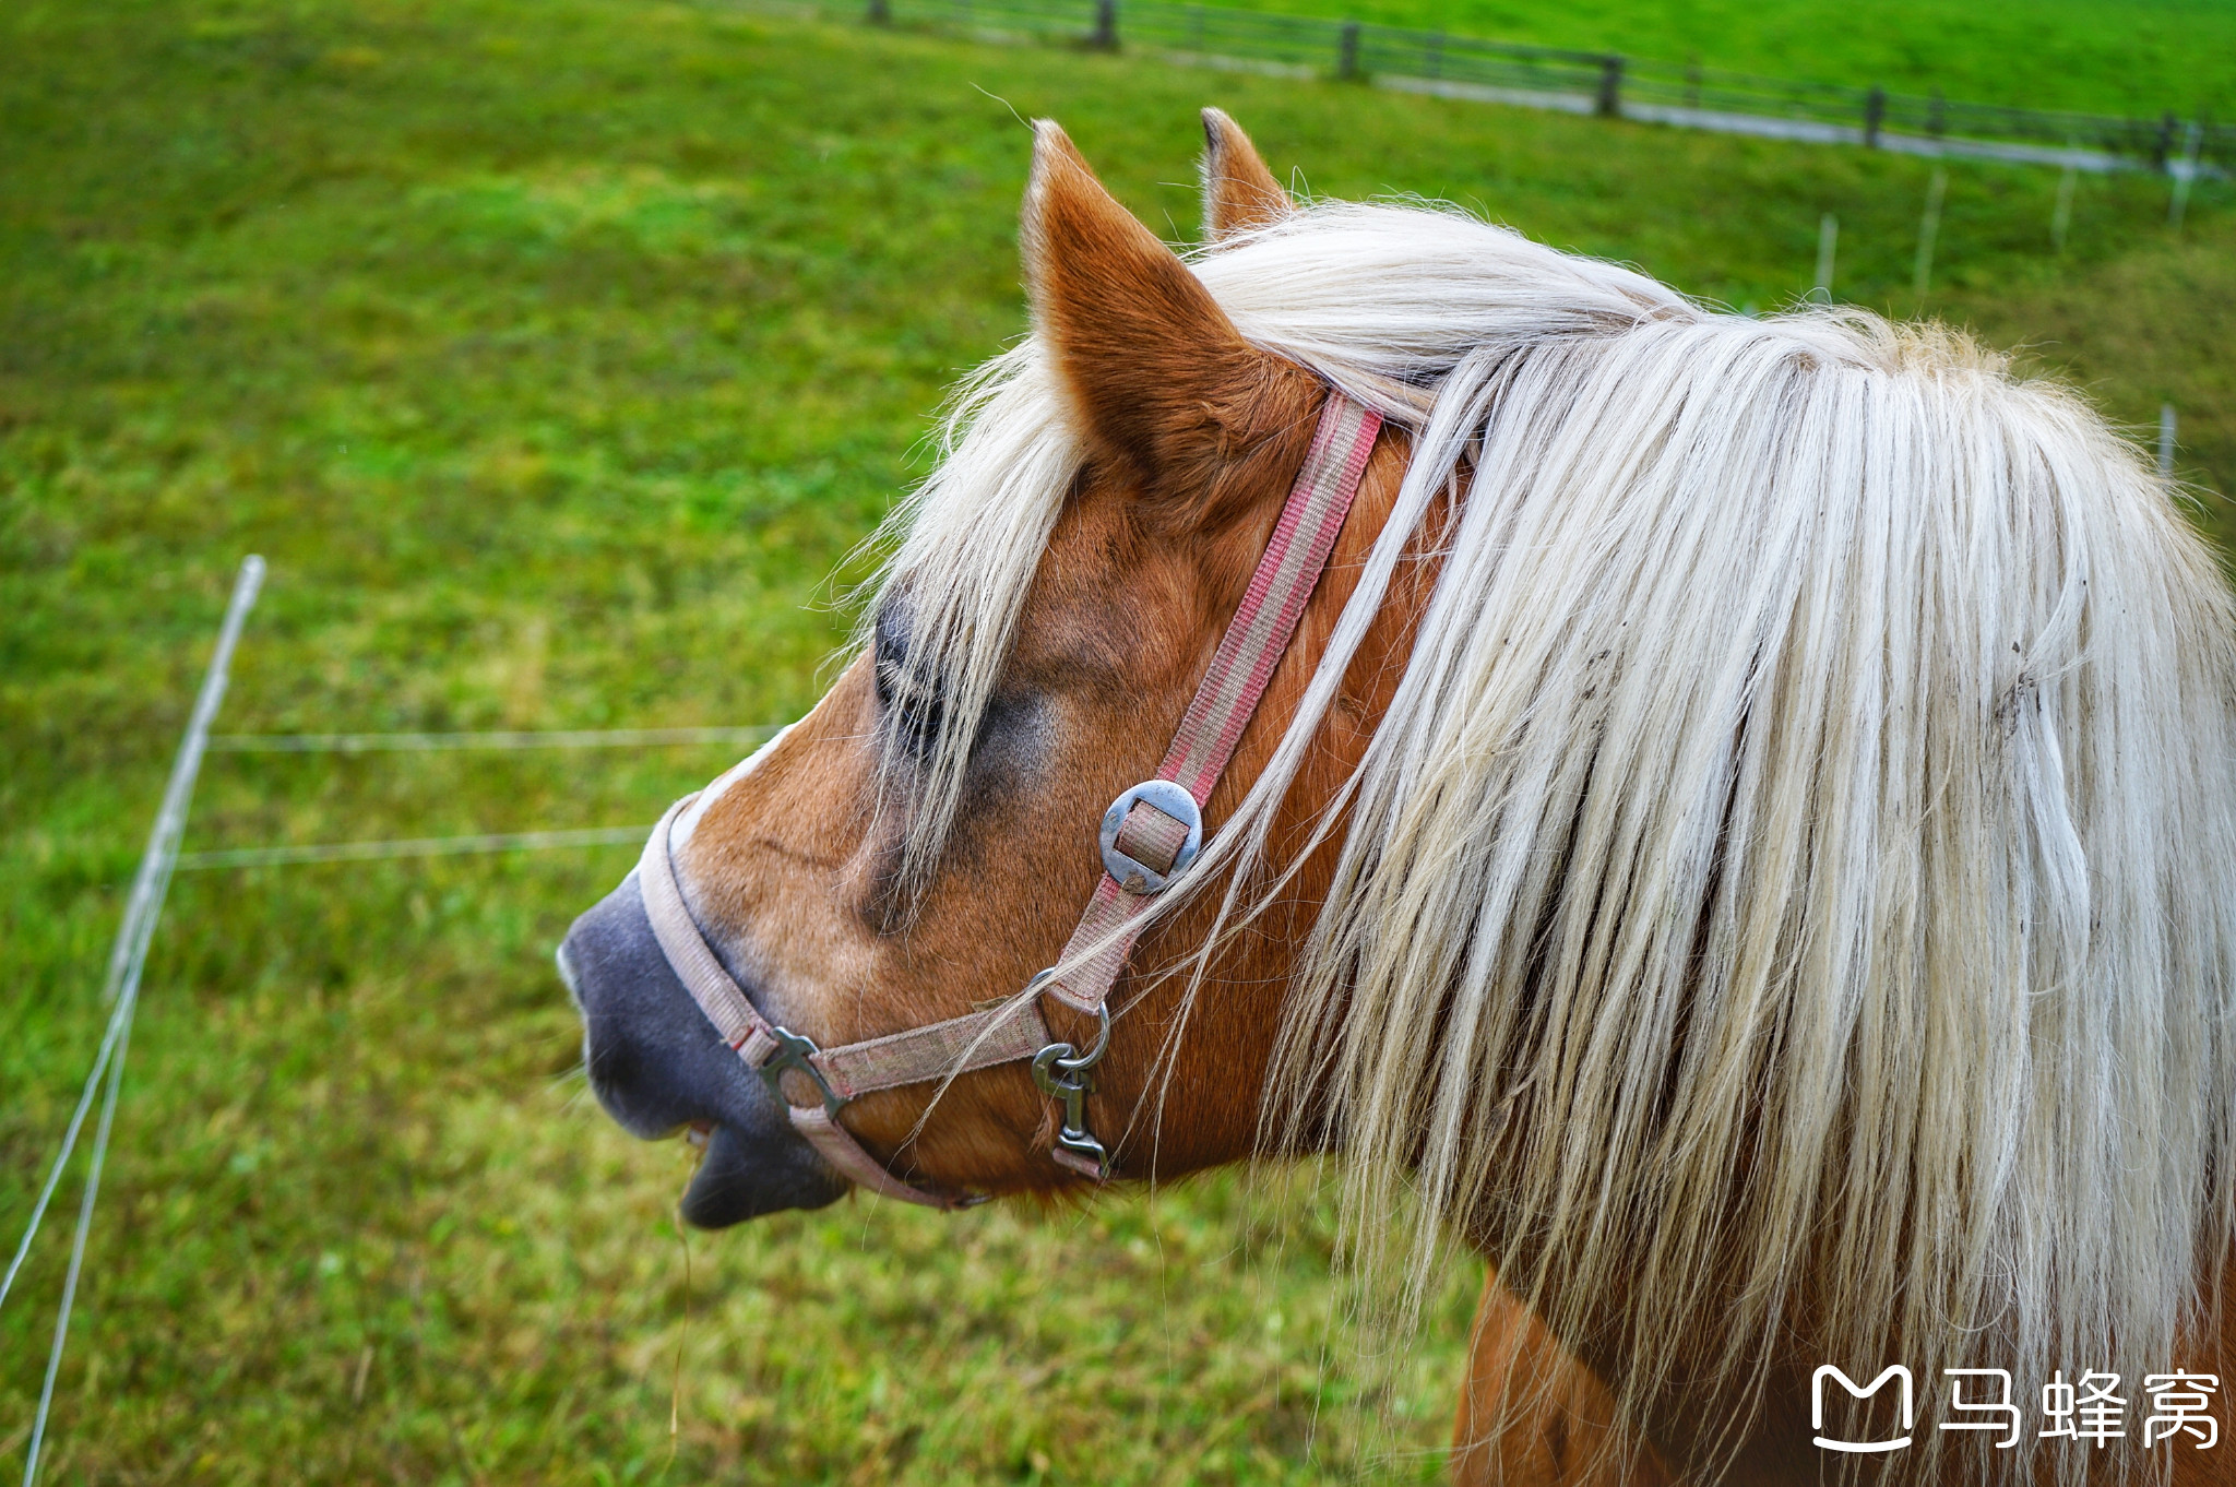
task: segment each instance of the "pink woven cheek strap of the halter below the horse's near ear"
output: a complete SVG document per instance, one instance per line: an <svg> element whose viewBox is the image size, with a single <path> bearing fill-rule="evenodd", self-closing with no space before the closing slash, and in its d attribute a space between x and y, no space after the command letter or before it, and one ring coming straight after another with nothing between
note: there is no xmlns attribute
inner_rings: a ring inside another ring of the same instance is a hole
<svg viewBox="0 0 2236 1487"><path fill-rule="evenodd" d="M1344 394L1328 394L1313 449L1304 456L1304 470L1297 472L1297 485L1290 487L1281 521L1266 543L1266 557L1250 575L1243 604L1228 622L1212 669L1196 684L1181 729L1165 749L1165 763L1156 769L1160 780L1185 787L1198 809L1212 798L1212 787L1219 785L1234 745L1241 742L1259 698L1272 682L1272 669L1281 664L1297 622L1304 619L1304 606L1319 586L1337 532L1344 530L1344 517L1351 514L1351 499L1359 490L1380 429L1382 414ZM1176 845L1176 825L1154 805L1138 803L1127 812L1120 839ZM1172 847L1165 847L1167 861L1169 854ZM1105 872L1058 962L1071 968L1044 982L1042 991L1082 1013L1100 1008L1125 970L1127 955L1140 937L1140 917L1152 901L1149 894L1127 892ZM1102 946L1089 953L1098 941Z"/></svg>

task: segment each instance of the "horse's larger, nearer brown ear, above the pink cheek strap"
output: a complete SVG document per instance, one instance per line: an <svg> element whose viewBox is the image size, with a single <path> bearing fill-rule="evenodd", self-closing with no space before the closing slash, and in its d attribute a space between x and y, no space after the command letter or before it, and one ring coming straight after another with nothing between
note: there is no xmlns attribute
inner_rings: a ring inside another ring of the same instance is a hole
<svg viewBox="0 0 2236 1487"><path fill-rule="evenodd" d="M1033 324L1082 432L1147 490L1205 492L1310 373L1241 338L1203 282L1102 190L1060 127L1033 125L1024 268Z"/></svg>

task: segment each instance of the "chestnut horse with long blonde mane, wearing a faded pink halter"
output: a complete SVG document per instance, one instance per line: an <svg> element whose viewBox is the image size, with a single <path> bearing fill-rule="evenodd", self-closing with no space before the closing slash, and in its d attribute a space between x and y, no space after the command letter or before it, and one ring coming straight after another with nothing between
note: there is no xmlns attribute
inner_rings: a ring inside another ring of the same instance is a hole
<svg viewBox="0 0 2236 1487"><path fill-rule="evenodd" d="M1373 1317L1489 1266L1456 1480L2229 1480L2167 1404L2236 1214L2178 492L1957 331L1203 121L1185 255L1033 125L1031 335L852 662L559 948L684 1216L1324 1154Z"/></svg>

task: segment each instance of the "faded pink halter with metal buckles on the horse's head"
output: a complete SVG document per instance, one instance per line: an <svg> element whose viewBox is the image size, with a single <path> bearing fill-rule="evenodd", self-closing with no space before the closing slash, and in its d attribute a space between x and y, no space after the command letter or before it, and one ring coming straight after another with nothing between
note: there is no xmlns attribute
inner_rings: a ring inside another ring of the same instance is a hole
<svg viewBox="0 0 2236 1487"><path fill-rule="evenodd" d="M1033 1060L1033 1082L1060 1107L1055 1145L1060 1165L1098 1183L1111 1176L1109 1152L1087 1129L1093 1069L1109 1046L1109 991L1145 928L1156 894L1187 872L1203 850L1203 805L1212 798L1243 727L1257 711L1281 653L1288 651L1304 606L1328 566L1335 534L1366 472L1382 416L1344 394L1328 394L1313 434L1313 449L1281 508L1266 555L1250 575L1243 604L1219 642L1210 671L1181 718L1181 729L1156 778L1122 792L1102 814L1102 881L1096 883L1080 926L1071 930L1055 966L991 1011L930 1022L885 1038L818 1049L809 1038L776 1026L745 995L707 944L675 881L669 832L698 798L689 794L660 818L637 863L637 888L653 921L660 953L700 1004L722 1040L767 1080L792 1116L794 1129L854 1183L888 1199L928 1207L970 1207L986 1194L946 1192L906 1183L885 1169L839 1125L852 1100L901 1085L946 1080L975 1069ZM1098 1020L1084 1053L1049 1035L1035 995Z"/></svg>

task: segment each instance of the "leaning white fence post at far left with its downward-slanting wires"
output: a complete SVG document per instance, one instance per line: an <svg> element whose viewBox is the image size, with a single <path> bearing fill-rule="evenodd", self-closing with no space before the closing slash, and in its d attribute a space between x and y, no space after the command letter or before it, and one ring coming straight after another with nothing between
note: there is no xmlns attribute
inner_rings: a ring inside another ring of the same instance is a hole
<svg viewBox="0 0 2236 1487"><path fill-rule="evenodd" d="M233 579L233 599L226 604L226 622L217 633L217 651L210 655L210 669L203 673L201 691L195 695L186 738L179 740L179 756L172 760L170 783L163 787L163 807L157 812L154 830L148 834L148 850L141 854L139 872L132 879L132 897L125 901L123 924L116 926L116 948L110 955L110 975L103 986L103 1000L114 1000L114 1006L107 1033L101 1038L101 1053L85 1080L85 1093L78 1098L69 1131L63 1136L63 1152L54 1158L47 1185L31 1210L31 1223L25 1228L16 1259L9 1263L7 1284L0 1286L0 1301L4 1301L25 1254L31 1252L38 1225L47 1216L47 1201L54 1196L63 1167L76 1149L78 1134L85 1129L85 1111L94 1087L103 1087L101 1120L94 1127L94 1147L85 1169L85 1196L78 1199L78 1230L69 1243L69 1270L63 1277L63 1304L54 1317L54 1346L47 1351L47 1377L38 1391L38 1413L31 1418L31 1447L22 1460L22 1487L31 1487L38 1480L40 1447L47 1442L54 1382L63 1371L63 1351L69 1344L69 1317L78 1299L78 1277L85 1270L85 1239L94 1228L94 1201L101 1196L101 1167L107 1163L110 1131L116 1123L116 1091L123 1087L125 1049L132 1042L132 1013L139 1006L148 944L154 939L163 894L170 890L170 874L179 859L179 839L186 834L186 809L195 798L195 776L201 774L201 756L210 742L210 724L217 720L217 707L226 700L226 673L233 666L233 648L241 640L241 626L248 622L248 610L257 602L262 586L264 559L248 555Z"/></svg>

